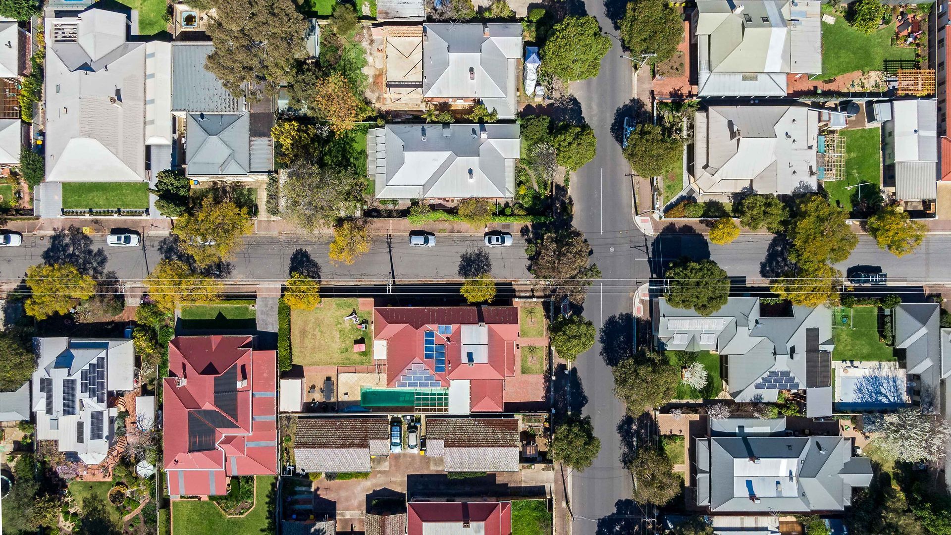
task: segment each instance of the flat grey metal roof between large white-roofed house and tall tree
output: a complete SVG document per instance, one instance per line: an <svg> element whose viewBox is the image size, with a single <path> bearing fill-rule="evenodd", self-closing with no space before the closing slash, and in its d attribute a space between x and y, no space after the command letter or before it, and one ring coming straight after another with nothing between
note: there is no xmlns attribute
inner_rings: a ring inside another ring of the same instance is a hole
<svg viewBox="0 0 951 535"><path fill-rule="evenodd" d="M210 113L241 110L241 100L204 69L204 60L213 50L210 43L172 44L172 109Z"/></svg>

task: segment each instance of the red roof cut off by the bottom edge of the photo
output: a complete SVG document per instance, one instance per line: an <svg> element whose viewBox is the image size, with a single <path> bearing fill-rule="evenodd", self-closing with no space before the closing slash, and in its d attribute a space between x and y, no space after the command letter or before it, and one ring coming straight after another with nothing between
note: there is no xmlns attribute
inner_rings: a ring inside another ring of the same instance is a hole
<svg viewBox="0 0 951 535"><path fill-rule="evenodd" d="M485 535L512 535L511 502L412 502L407 535L422 535L426 524L483 525Z"/></svg>

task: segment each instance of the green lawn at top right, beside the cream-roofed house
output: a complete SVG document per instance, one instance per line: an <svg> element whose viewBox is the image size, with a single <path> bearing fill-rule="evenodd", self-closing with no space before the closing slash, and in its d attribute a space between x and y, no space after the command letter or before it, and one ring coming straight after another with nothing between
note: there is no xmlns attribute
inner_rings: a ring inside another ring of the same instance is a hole
<svg viewBox="0 0 951 535"><path fill-rule="evenodd" d="M834 11L823 7L823 14ZM915 59L915 49L891 46L895 25L863 33L835 15L835 24L823 23L823 73L818 80L830 80L855 70L882 70L885 59Z"/></svg>

